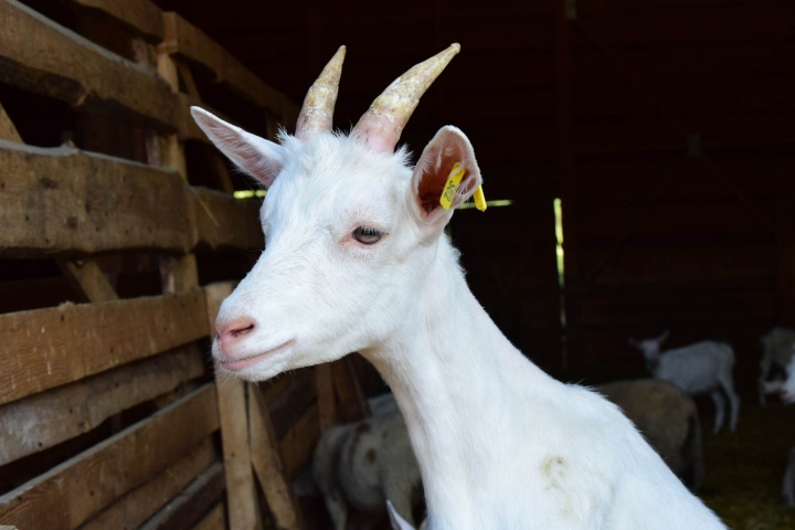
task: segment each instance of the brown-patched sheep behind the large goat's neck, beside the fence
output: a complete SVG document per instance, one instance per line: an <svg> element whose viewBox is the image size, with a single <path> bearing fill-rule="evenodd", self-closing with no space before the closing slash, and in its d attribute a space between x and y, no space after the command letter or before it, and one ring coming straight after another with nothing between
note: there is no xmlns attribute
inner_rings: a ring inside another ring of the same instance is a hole
<svg viewBox="0 0 795 530"><path fill-rule="evenodd" d="M383 513L389 499L414 522L412 507L422 500L420 466L409 430L392 394L371 400L377 414L326 431L312 457L312 476L336 530L344 530L348 509Z"/></svg>

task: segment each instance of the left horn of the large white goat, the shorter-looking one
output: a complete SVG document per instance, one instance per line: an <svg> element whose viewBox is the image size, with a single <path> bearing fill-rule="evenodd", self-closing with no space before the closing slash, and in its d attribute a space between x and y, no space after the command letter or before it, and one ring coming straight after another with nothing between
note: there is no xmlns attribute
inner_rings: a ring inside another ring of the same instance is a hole
<svg viewBox="0 0 795 530"><path fill-rule="evenodd" d="M320 73L320 77L307 92L296 124L296 138L306 140L310 132L331 130L344 52L344 46L337 50Z"/></svg>

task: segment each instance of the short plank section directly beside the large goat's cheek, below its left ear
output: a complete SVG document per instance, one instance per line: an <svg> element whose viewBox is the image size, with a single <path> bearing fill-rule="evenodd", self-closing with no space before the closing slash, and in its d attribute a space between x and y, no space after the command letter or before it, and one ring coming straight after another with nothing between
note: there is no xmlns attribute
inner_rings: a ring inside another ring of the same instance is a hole
<svg viewBox="0 0 795 530"><path fill-rule="evenodd" d="M202 244L212 248L262 250L259 213L252 201L239 201L206 188L192 188L192 191L193 219Z"/></svg>

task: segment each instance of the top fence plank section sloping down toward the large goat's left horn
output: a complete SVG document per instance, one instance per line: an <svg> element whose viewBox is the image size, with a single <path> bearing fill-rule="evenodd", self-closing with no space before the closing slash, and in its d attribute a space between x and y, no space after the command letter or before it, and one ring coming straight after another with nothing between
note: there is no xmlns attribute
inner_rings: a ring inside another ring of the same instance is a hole
<svg viewBox="0 0 795 530"><path fill-rule="evenodd" d="M273 110L284 118L295 110L293 103L282 93L254 75L220 44L177 13L163 15L166 39L161 52L176 54L210 70L218 82L226 83L252 103Z"/></svg>

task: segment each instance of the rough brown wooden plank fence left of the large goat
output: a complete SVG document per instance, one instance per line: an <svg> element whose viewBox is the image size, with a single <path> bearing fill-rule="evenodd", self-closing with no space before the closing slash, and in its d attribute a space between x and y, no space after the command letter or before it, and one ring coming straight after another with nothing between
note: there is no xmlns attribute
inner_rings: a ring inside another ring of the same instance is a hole
<svg viewBox="0 0 795 530"><path fill-rule="evenodd" d="M297 108L150 0L51 4L0 0L0 526L305 528L292 480L367 405L348 361L214 380L263 241L189 115L206 93L273 137Z"/></svg>

